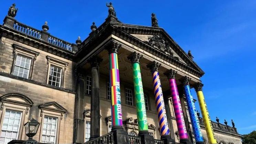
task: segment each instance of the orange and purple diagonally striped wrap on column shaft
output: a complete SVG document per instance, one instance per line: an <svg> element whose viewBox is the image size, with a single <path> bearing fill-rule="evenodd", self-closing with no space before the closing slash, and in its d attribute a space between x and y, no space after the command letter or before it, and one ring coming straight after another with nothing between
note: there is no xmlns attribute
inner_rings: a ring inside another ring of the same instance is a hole
<svg viewBox="0 0 256 144"><path fill-rule="evenodd" d="M170 130L168 127L166 110L165 110L164 101L163 101L163 92L162 92L158 71L152 72L152 78L153 78L154 96L155 96L156 107L157 107L160 134L169 135Z"/></svg>

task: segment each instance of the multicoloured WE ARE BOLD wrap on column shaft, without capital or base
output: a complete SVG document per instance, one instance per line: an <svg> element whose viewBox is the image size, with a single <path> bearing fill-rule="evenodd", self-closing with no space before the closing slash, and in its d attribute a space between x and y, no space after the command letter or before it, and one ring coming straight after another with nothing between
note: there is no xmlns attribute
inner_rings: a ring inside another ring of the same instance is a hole
<svg viewBox="0 0 256 144"><path fill-rule="evenodd" d="M122 109L117 53L109 54L112 126L122 126Z"/></svg>

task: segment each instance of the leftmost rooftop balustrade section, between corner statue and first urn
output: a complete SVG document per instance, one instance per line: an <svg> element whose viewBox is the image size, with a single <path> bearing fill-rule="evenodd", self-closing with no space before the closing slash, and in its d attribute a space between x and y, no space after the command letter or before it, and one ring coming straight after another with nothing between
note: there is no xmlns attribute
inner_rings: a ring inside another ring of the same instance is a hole
<svg viewBox="0 0 256 144"><path fill-rule="evenodd" d="M30 27L28 25L19 23L16 21L16 23L14 23L13 28L19 32L25 33L27 35L30 35L32 37L41 38L41 32L39 30L34 29L33 27Z"/></svg>

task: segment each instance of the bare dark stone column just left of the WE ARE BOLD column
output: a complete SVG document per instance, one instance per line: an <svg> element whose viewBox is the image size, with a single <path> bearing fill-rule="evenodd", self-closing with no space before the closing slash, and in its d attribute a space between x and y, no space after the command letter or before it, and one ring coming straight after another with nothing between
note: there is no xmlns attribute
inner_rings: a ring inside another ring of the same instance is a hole
<svg viewBox="0 0 256 144"><path fill-rule="evenodd" d="M89 62L92 67L92 93L90 105L90 139L93 140L100 136L99 130L99 63L102 58L92 57Z"/></svg>

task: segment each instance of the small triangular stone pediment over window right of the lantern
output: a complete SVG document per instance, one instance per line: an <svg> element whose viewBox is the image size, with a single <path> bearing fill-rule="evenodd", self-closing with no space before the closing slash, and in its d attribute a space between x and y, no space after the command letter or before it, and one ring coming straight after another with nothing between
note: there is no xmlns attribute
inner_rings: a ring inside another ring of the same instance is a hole
<svg viewBox="0 0 256 144"><path fill-rule="evenodd" d="M60 104L58 104L55 101L49 102L49 103L40 104L38 106L38 108L41 109L41 114L40 114L41 117L43 115L44 110L61 113L62 116L63 116L63 114L65 114L67 112L67 110L65 108L63 108Z"/></svg>

